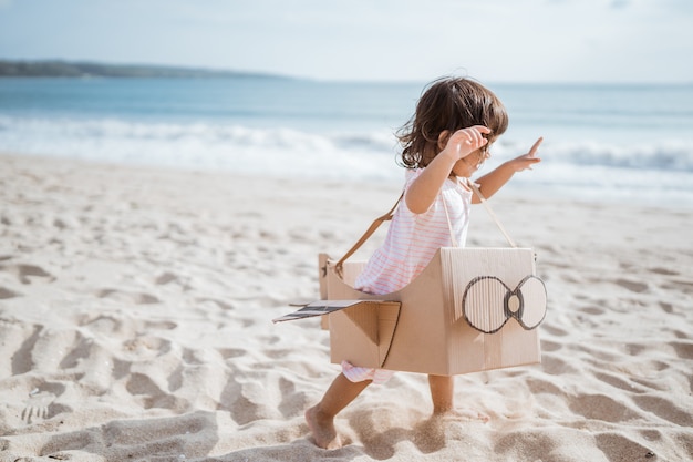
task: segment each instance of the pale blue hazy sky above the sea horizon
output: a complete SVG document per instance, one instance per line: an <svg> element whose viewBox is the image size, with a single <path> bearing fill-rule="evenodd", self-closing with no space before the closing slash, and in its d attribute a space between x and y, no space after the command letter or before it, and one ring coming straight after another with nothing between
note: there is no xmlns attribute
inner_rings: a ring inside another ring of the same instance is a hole
<svg viewBox="0 0 693 462"><path fill-rule="evenodd" d="M0 0L0 59L318 80L693 82L691 0Z"/></svg>

